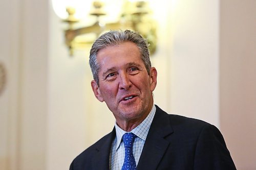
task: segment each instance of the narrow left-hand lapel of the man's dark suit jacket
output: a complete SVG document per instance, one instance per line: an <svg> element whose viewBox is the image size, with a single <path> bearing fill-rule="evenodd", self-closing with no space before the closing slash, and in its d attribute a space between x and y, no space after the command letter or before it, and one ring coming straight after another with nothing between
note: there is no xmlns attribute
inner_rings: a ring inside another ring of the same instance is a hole
<svg viewBox="0 0 256 170"><path fill-rule="evenodd" d="M96 156L95 163L93 169L110 169L109 159L110 159L110 151L112 146L112 141L115 139L116 130L113 131L106 136L106 140L104 143L101 143L99 147L96 148Z"/></svg>

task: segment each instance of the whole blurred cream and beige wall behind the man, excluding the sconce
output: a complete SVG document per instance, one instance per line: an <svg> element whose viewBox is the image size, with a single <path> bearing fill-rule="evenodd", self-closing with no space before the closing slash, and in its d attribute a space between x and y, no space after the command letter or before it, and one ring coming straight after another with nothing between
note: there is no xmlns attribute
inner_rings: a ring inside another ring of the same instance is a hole
<svg viewBox="0 0 256 170"><path fill-rule="evenodd" d="M154 2L154 1L153 1ZM253 0L157 1L155 104L217 126L238 169L255 169ZM68 169L115 123L90 87L89 51L69 57L50 1L3 0L0 167Z"/></svg>

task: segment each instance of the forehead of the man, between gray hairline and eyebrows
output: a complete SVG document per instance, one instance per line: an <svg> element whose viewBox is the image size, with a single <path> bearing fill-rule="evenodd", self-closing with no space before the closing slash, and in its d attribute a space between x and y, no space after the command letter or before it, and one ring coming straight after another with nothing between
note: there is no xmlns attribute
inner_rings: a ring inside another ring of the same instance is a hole
<svg viewBox="0 0 256 170"><path fill-rule="evenodd" d="M102 48L98 51L97 62L100 70L127 65L127 63L144 65L138 46L130 41Z"/></svg>

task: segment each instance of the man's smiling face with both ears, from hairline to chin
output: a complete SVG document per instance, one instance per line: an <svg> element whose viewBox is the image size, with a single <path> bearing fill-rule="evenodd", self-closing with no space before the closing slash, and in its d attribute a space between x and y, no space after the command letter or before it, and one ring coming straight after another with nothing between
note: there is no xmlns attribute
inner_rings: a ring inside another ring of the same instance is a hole
<svg viewBox="0 0 256 170"><path fill-rule="evenodd" d="M101 49L97 61L99 86L91 83L96 98L106 103L117 123L143 120L153 106L156 69L152 67L148 75L139 48L130 41Z"/></svg>

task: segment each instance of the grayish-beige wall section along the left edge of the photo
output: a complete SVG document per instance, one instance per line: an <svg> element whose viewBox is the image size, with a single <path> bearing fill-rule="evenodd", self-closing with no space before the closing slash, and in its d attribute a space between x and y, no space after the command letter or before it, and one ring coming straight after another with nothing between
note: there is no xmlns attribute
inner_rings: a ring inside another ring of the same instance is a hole
<svg viewBox="0 0 256 170"><path fill-rule="evenodd" d="M1 1L1 55L7 86L0 96L1 169L45 169L48 2Z"/></svg>

